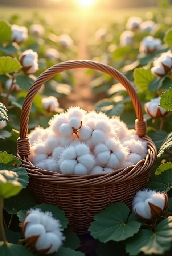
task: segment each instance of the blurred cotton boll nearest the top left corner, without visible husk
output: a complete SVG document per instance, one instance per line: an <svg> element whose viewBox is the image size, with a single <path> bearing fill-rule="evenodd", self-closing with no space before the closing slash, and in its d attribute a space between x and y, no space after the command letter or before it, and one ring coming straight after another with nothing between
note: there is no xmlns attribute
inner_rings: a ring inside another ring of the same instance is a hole
<svg viewBox="0 0 172 256"><path fill-rule="evenodd" d="M18 25L13 24L11 26L12 30L12 41L17 44L21 44L28 39L28 29L24 26L20 27Z"/></svg>

